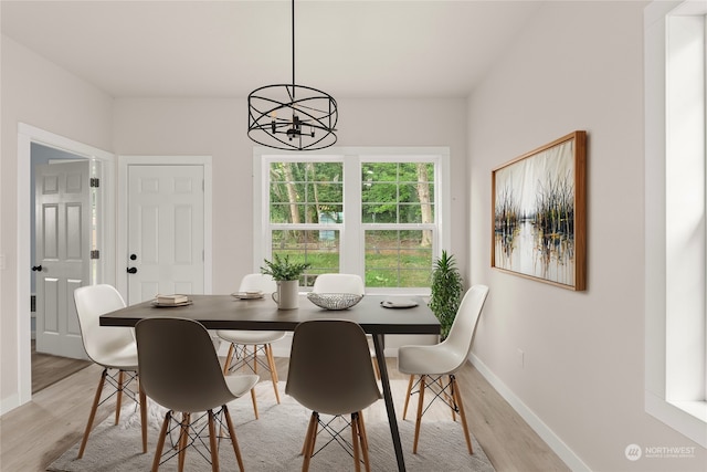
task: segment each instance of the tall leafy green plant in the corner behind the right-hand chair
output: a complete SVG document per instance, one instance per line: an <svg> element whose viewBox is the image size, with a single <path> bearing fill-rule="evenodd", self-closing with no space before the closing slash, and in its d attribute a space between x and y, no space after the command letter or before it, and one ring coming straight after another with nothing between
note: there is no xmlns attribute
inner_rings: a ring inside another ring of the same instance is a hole
<svg viewBox="0 0 707 472"><path fill-rule="evenodd" d="M464 280L456 266L454 255L442 251L442 256L434 261L432 269L432 286L430 310L440 321L441 336L444 340L452 329L456 312L462 303Z"/></svg>

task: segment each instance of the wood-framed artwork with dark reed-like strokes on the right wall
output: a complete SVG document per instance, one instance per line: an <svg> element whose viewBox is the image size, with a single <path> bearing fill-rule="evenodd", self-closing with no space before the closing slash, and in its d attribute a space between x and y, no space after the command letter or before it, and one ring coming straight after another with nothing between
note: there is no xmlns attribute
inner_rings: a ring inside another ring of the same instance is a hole
<svg viewBox="0 0 707 472"><path fill-rule="evenodd" d="M490 264L585 289L587 133L570 133L492 171Z"/></svg>

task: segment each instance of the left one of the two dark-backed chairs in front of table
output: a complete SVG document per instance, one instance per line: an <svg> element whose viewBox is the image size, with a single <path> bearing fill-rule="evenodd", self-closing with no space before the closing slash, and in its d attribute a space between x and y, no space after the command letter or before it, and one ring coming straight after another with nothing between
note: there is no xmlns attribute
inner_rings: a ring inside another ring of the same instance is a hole
<svg viewBox="0 0 707 472"><path fill-rule="evenodd" d="M179 470L183 469L189 445L205 444L199 432L191 431L191 426L198 421L191 420L191 413L203 411L209 421L208 449L212 470L219 470L218 441L221 434L217 434L217 423L222 431L225 422L239 468L243 471L241 450L226 403L252 390L258 377L224 377L209 332L193 319L145 318L135 326L135 334L145 392L169 409L160 430L152 471L159 469L165 439L169 434L175 412L181 412L182 416L181 421L178 421ZM171 457L172 453L168 452L167 455Z"/></svg>

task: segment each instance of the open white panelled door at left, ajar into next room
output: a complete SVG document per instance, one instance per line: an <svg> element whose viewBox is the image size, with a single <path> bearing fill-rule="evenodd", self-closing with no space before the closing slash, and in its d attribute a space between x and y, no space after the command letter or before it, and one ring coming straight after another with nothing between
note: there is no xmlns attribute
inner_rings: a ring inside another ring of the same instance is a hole
<svg viewBox="0 0 707 472"><path fill-rule="evenodd" d="M74 290L89 283L91 162L35 167L36 350L85 358Z"/></svg>

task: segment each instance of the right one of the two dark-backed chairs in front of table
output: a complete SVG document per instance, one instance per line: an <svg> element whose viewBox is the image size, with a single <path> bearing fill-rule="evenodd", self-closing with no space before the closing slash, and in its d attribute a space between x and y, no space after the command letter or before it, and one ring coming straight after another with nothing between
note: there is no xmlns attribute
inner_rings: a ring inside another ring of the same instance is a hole
<svg viewBox="0 0 707 472"><path fill-rule="evenodd" d="M366 333L358 324L344 319L300 323L293 336L285 391L312 410L303 447L303 471L308 470L316 453L318 427L323 426L333 437L339 437L341 432L338 427L330 426L331 421L321 421L319 413L350 415L356 470L360 470L359 445L366 470L370 470L362 410L381 395L370 363ZM337 442L341 443L342 438Z"/></svg>

